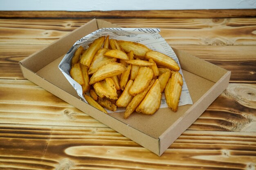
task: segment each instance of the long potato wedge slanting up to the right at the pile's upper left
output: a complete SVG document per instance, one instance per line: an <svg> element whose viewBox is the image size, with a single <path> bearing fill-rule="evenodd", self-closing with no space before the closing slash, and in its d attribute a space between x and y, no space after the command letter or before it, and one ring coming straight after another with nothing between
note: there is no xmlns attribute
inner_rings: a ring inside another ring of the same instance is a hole
<svg viewBox="0 0 256 170"><path fill-rule="evenodd" d="M105 40L105 36L102 36L94 40L94 42L92 42L89 48L81 56L81 60L80 60L81 64L85 65L88 68L90 67L94 55L97 53L99 49L101 49L101 46L104 40Z"/></svg>

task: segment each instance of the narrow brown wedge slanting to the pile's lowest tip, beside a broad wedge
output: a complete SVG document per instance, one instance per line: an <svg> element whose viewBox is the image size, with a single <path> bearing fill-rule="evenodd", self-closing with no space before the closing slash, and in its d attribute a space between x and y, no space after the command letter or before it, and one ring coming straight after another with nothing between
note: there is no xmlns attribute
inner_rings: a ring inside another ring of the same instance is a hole
<svg viewBox="0 0 256 170"><path fill-rule="evenodd" d="M132 101L126 107L126 111L124 113L124 119L127 119L130 116L130 114L132 114L132 112L137 108L137 106L139 106L140 102L148 93L149 89L153 86L154 82L155 80L152 80L144 91L142 91L141 93L133 97Z"/></svg>

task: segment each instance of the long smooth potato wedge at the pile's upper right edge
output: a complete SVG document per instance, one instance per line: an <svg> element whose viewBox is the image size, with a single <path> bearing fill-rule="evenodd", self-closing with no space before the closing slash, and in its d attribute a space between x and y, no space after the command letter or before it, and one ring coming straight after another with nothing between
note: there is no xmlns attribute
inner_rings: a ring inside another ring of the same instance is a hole
<svg viewBox="0 0 256 170"><path fill-rule="evenodd" d="M152 59L157 65L166 66L167 68L171 68L173 71L179 71L180 67L178 64L169 56L164 55L163 53L159 53L157 51L148 51L145 54L146 59Z"/></svg>

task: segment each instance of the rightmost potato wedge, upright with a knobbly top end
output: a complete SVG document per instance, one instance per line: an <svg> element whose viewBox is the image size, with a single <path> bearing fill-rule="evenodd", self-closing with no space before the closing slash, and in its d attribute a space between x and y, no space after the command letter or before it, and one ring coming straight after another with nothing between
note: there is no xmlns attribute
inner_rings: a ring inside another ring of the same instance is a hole
<svg viewBox="0 0 256 170"><path fill-rule="evenodd" d="M166 103L174 112L176 112L178 108L182 85L182 75L179 72L174 72L171 78L169 78L164 89Z"/></svg>

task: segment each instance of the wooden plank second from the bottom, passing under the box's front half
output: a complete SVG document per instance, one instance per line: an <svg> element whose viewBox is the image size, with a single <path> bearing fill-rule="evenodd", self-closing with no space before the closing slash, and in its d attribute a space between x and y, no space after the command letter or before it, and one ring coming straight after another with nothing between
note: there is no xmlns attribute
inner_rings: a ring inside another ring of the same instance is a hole
<svg viewBox="0 0 256 170"><path fill-rule="evenodd" d="M106 127L28 80L0 79L0 94L6 124ZM255 97L255 85L229 84L189 129L256 132Z"/></svg>

